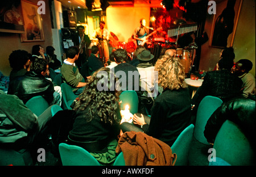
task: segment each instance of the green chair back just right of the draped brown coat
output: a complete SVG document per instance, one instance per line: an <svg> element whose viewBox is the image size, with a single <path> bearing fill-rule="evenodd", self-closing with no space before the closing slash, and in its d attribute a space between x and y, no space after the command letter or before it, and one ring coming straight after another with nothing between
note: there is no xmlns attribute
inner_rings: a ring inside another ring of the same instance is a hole
<svg viewBox="0 0 256 177"><path fill-rule="evenodd" d="M194 125L191 124L185 128L175 140L171 146L172 153L177 154L177 160L175 166L187 166L188 155L191 148L191 142L193 139Z"/></svg>

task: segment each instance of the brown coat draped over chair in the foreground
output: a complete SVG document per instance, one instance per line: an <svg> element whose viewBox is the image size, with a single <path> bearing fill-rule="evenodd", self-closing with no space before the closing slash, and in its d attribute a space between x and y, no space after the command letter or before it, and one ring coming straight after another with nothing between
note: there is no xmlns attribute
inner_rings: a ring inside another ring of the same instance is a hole
<svg viewBox="0 0 256 177"><path fill-rule="evenodd" d="M125 132L119 138L117 153L123 152L126 166L174 166L171 147L143 132Z"/></svg>

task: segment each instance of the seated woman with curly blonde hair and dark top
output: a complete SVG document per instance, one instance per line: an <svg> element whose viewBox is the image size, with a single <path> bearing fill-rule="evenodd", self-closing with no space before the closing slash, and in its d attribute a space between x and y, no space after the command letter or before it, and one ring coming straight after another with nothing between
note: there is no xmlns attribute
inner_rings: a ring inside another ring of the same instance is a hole
<svg viewBox="0 0 256 177"><path fill-rule="evenodd" d="M151 118L133 115L133 124L121 124L122 132L143 131L169 146L174 144L179 134L191 123L191 96L185 83L185 73L179 58L164 55L156 61L158 83L163 92L154 100Z"/></svg>

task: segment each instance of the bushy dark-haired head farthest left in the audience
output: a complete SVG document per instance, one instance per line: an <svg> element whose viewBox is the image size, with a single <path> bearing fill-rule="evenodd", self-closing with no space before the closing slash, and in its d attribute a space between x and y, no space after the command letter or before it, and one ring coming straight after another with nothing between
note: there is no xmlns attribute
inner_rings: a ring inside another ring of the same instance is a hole
<svg viewBox="0 0 256 177"><path fill-rule="evenodd" d="M14 50L9 56L9 63L14 70L23 69L30 65L31 54L26 50Z"/></svg>

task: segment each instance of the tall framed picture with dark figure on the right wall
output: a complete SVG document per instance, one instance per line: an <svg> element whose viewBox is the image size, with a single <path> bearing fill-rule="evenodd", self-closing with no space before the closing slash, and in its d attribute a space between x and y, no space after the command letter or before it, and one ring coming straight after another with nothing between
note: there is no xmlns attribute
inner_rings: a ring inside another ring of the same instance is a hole
<svg viewBox="0 0 256 177"><path fill-rule="evenodd" d="M233 47L242 1L216 1L216 14L213 16L212 31L210 33L210 47Z"/></svg>

